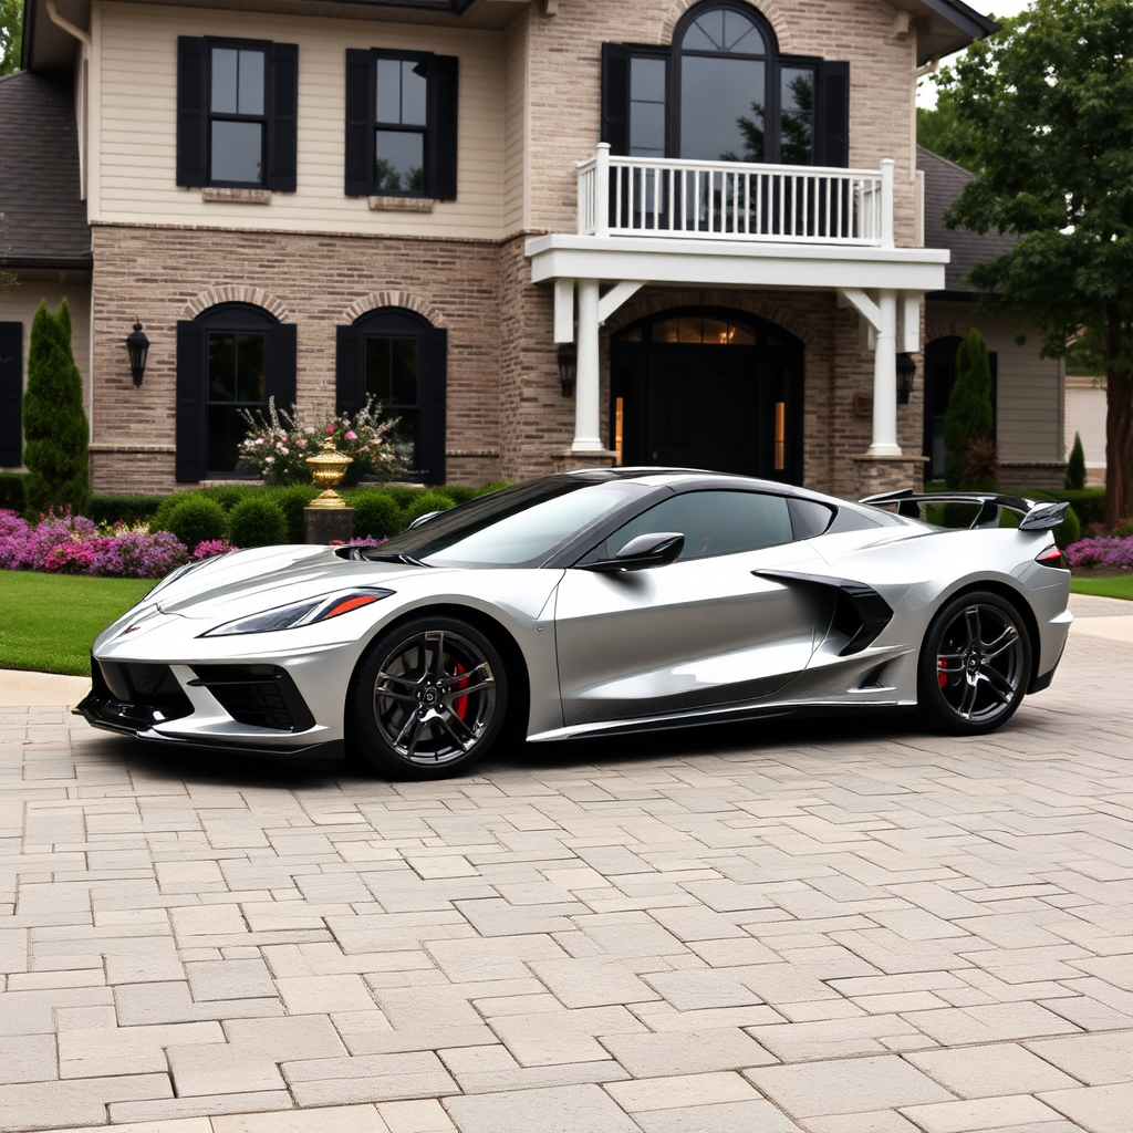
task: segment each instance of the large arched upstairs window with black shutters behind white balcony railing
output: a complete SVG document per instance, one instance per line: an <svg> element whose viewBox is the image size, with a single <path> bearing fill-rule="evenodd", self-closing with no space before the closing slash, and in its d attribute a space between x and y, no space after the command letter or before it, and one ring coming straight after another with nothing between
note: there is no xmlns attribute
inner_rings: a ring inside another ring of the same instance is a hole
<svg viewBox="0 0 1133 1133"><path fill-rule="evenodd" d="M616 154L849 164L850 65L778 53L739 0L682 17L671 49L603 46L603 139Z"/></svg>

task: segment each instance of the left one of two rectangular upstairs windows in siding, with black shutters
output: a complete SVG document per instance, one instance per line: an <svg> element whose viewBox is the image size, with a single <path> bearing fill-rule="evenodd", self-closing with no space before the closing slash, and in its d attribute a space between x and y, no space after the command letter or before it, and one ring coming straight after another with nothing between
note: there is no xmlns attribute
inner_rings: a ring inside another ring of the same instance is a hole
<svg viewBox="0 0 1133 1133"><path fill-rule="evenodd" d="M299 49L181 36L177 184L296 188Z"/></svg>

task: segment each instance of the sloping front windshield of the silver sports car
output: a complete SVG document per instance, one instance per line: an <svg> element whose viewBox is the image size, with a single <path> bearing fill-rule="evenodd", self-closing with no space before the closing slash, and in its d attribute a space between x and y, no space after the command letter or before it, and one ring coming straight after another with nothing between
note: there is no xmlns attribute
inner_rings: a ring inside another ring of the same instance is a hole
<svg viewBox="0 0 1133 1133"><path fill-rule="evenodd" d="M651 491L573 477L517 484L434 516L361 556L428 566L540 566L582 530Z"/></svg>

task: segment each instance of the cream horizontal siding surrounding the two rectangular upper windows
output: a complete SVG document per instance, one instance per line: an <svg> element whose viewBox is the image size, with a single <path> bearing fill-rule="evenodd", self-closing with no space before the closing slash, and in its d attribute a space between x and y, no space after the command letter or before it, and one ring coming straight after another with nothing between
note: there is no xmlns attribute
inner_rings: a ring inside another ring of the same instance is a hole
<svg viewBox="0 0 1133 1133"><path fill-rule="evenodd" d="M503 34L219 9L104 3L99 19L99 191L93 222L497 239L503 214ZM296 193L205 203L176 184L177 37L299 44ZM429 214L374 212L342 191L347 48L460 58L459 197Z"/></svg>

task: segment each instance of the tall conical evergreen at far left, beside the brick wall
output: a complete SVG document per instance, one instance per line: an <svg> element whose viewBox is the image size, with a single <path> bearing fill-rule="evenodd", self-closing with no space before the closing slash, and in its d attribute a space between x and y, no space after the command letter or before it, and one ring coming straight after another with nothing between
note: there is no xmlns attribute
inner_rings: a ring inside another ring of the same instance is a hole
<svg viewBox="0 0 1133 1133"><path fill-rule="evenodd" d="M63 299L52 315L41 303L32 322L24 391L25 488L32 514L66 506L86 514L91 505L88 436L83 380L71 353L70 308Z"/></svg>

